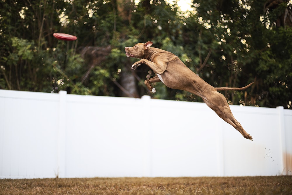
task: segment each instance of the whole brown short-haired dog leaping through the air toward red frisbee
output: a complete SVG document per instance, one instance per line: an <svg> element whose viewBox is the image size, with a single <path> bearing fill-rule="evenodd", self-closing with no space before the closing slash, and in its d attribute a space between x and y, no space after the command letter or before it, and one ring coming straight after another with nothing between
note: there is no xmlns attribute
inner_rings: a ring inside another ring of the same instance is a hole
<svg viewBox="0 0 292 195"><path fill-rule="evenodd" d="M220 90L243 90L253 83L241 88L212 87L192 72L192 70L187 68L177 56L171 52L150 47L152 44L151 41L148 41L145 44L138 43L133 47L125 47L127 57L141 59L132 65L132 69L136 69L141 64L146 64L156 74L153 78L147 79L144 82L150 92L155 93L155 89L151 86L151 83L161 81L169 88L185 90L200 96L220 118L237 129L246 139L253 140L234 118L225 97L217 92Z"/></svg>

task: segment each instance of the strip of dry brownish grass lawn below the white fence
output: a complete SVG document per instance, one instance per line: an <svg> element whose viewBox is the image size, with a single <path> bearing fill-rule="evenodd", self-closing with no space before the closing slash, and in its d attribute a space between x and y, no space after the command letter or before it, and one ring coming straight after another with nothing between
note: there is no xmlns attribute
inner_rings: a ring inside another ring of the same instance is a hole
<svg viewBox="0 0 292 195"><path fill-rule="evenodd" d="M0 194L292 194L292 176L1 179Z"/></svg>

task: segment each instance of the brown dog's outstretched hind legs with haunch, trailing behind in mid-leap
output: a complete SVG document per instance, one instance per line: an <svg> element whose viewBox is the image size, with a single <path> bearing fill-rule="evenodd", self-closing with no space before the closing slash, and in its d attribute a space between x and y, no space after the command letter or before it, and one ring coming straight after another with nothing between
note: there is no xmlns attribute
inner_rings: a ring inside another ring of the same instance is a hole
<svg viewBox="0 0 292 195"><path fill-rule="evenodd" d="M204 102L215 111L220 118L225 120L227 123L232 125L236 130L238 130L243 137L246 139L253 140L250 134L248 134L241 124L234 118L230 107L225 99L225 97L219 92L212 92L213 94L208 96L208 99L203 99Z"/></svg>

